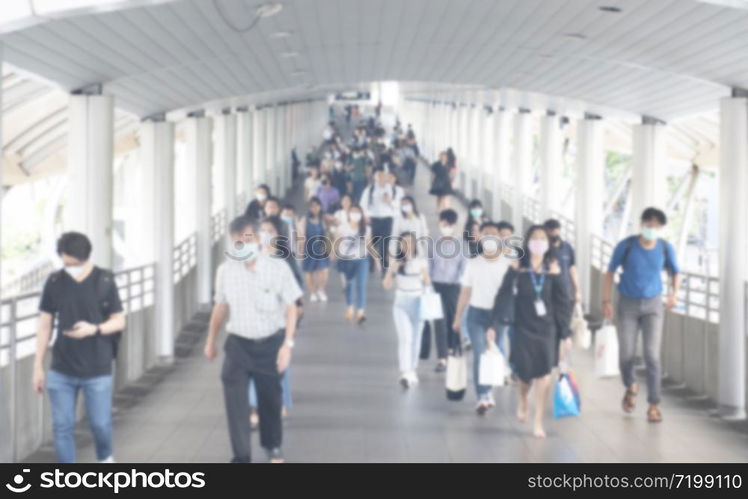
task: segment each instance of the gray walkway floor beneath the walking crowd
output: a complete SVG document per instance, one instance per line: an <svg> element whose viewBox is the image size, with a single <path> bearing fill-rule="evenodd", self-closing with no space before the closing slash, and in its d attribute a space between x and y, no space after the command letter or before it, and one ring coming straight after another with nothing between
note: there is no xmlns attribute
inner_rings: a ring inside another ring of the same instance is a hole
<svg viewBox="0 0 748 499"><path fill-rule="evenodd" d="M420 169L417 199L435 220L427 176ZM433 359L421 364L421 384L403 391L397 384L391 295L378 279L369 283L369 292L369 320L360 327L343 320L337 273L331 274L330 302L307 306L294 350L294 408L285 423L290 462L748 461L748 432L710 418L683 398L666 396L659 425L645 421L642 404L634 415L624 415L619 380L595 379L589 352L575 355L583 413L562 420L549 414L545 440L533 438L530 425L514 419L513 387L497 391L498 405L485 417L473 411L472 394L461 403L448 402ZM120 462L228 462L222 359L206 361L201 346L117 413ZM256 434L253 448L256 460L264 461ZM82 441L79 455L82 461L94 459L90 439ZM49 446L30 458L52 459Z"/></svg>

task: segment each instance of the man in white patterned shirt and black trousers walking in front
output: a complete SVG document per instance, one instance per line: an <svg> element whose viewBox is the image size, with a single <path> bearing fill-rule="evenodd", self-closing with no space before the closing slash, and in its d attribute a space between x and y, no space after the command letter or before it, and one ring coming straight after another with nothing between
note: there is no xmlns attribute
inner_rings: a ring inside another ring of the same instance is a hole
<svg viewBox="0 0 748 499"><path fill-rule="evenodd" d="M248 387L254 380L260 444L270 461L278 463L283 462L281 374L291 362L301 289L285 261L261 251L256 230L257 222L245 217L231 222L232 247L216 272L205 356L216 357L216 337L230 311L221 381L232 462L251 461Z"/></svg>

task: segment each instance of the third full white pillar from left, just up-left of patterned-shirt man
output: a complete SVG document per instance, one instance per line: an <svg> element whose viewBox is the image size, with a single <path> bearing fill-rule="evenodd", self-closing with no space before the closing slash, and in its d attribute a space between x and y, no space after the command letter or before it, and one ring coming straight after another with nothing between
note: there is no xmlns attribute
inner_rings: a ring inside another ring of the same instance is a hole
<svg viewBox="0 0 748 499"><path fill-rule="evenodd" d="M187 144L185 156L190 176L195 179L195 219L197 233L197 303L207 306L211 303L212 289L212 129L213 122L206 117L187 118Z"/></svg>

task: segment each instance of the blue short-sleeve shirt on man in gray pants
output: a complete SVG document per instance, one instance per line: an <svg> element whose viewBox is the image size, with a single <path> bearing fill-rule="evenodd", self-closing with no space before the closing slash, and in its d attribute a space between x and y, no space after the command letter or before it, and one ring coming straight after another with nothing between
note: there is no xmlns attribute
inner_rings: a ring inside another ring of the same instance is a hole
<svg viewBox="0 0 748 499"><path fill-rule="evenodd" d="M630 249L624 265L623 256L627 248ZM623 266L623 273L618 282L618 291L622 295L629 298L654 298L662 295L662 270L666 261L670 273L680 272L672 244L664 239L658 239L654 248L645 249L639 238L634 237L618 243L613 250L608 271L614 273L618 267Z"/></svg>

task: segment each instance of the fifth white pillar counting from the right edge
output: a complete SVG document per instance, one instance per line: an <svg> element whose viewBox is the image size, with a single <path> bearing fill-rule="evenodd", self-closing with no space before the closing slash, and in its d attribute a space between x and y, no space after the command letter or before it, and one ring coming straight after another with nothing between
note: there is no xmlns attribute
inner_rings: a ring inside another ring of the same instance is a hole
<svg viewBox="0 0 748 499"><path fill-rule="evenodd" d="M524 198L528 194L532 178L532 115L520 109L514 116L514 165L512 168L512 224L519 233L524 232L522 217Z"/></svg>

